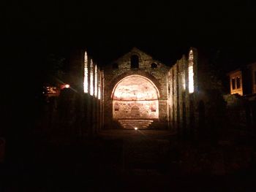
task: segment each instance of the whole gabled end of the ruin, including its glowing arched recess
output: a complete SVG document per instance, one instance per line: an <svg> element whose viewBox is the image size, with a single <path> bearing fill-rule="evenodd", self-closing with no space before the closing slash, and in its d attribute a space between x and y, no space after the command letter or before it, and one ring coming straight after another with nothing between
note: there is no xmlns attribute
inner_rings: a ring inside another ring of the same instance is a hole
<svg viewBox="0 0 256 192"><path fill-rule="evenodd" d="M106 128L167 124L168 70L137 48L105 66Z"/></svg>

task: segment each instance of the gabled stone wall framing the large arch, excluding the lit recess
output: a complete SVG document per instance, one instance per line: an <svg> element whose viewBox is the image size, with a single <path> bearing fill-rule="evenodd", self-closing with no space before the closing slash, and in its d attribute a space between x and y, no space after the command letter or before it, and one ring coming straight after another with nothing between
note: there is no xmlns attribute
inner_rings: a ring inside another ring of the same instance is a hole
<svg viewBox="0 0 256 192"><path fill-rule="evenodd" d="M131 68L132 55L138 55L138 69ZM155 64L151 67L151 64ZM159 121L167 123L167 72L169 68L159 61L154 60L150 55L143 53L137 48L133 48L104 69L105 88L104 88L104 108L105 108L105 127L112 128L113 123L113 103L111 94L115 85L132 74L147 77L156 85L159 91Z"/></svg>

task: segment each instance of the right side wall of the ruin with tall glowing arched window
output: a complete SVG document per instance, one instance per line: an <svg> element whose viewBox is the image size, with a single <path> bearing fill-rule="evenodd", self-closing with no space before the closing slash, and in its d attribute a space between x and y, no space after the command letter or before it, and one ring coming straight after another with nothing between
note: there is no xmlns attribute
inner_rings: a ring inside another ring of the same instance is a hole
<svg viewBox="0 0 256 192"><path fill-rule="evenodd" d="M189 93L189 53L176 61L167 75L170 127L181 135L189 135L195 127L195 95L197 94L197 50L193 53L194 91Z"/></svg>

